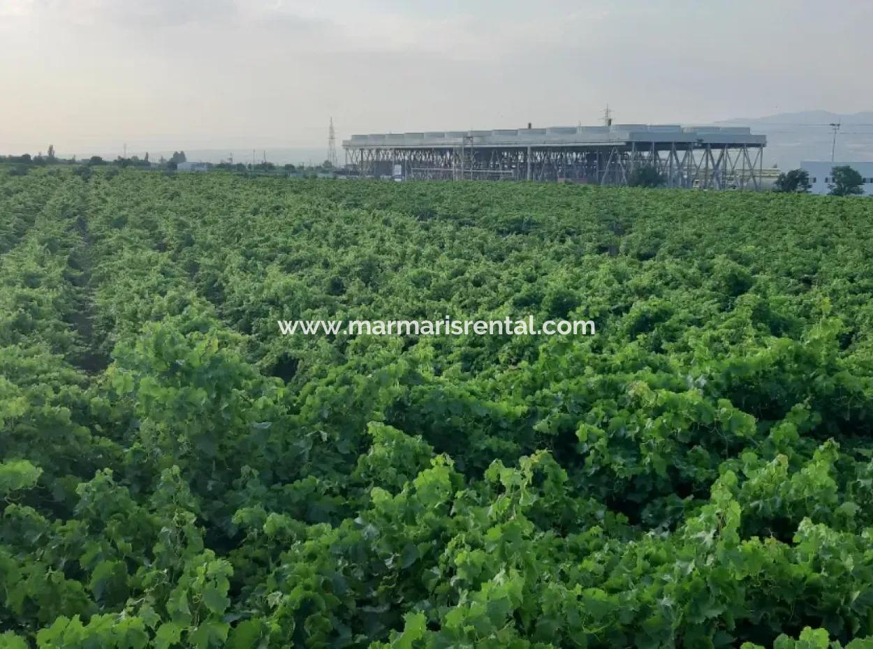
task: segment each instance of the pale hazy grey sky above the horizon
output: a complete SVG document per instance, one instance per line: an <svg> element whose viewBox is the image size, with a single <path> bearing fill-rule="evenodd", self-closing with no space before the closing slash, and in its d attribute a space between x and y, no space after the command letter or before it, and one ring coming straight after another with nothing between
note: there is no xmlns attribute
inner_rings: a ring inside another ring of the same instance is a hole
<svg viewBox="0 0 873 649"><path fill-rule="evenodd" d="M870 0L0 0L0 153L850 113L871 30Z"/></svg>

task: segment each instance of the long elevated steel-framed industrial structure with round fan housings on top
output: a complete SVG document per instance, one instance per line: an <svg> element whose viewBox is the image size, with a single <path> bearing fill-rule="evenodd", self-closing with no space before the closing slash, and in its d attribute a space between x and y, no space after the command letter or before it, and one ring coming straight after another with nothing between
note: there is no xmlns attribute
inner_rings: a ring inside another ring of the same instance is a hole
<svg viewBox="0 0 873 649"><path fill-rule="evenodd" d="M766 137L747 127L552 126L374 133L343 140L361 176L626 185L656 167L668 187L760 189Z"/></svg>

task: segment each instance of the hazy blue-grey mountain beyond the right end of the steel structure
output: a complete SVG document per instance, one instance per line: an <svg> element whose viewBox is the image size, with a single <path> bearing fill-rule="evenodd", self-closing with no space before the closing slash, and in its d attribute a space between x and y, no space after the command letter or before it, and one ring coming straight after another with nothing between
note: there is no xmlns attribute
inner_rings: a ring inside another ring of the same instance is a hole
<svg viewBox="0 0 873 649"><path fill-rule="evenodd" d="M835 160L873 161L873 111L840 114L830 111L778 113L756 118L715 122L718 126L749 126L766 135L765 165L793 169L804 160L830 160L834 132L839 123Z"/></svg>

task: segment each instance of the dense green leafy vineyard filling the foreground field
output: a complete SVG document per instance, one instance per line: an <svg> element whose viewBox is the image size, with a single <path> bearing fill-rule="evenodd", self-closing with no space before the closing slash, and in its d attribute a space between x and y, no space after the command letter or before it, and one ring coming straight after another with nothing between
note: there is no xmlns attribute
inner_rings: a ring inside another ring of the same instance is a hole
<svg viewBox="0 0 873 649"><path fill-rule="evenodd" d="M871 649L871 328L866 199L0 168L0 648Z"/></svg>

